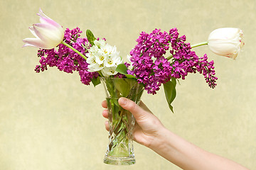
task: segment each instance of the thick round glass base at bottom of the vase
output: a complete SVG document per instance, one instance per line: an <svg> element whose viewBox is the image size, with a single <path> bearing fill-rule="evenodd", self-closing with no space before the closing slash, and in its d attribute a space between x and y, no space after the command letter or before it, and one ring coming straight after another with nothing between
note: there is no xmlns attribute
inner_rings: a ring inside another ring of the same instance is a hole
<svg viewBox="0 0 256 170"><path fill-rule="evenodd" d="M135 164L134 157L110 157L106 156L103 161L105 164L112 165L130 165Z"/></svg>

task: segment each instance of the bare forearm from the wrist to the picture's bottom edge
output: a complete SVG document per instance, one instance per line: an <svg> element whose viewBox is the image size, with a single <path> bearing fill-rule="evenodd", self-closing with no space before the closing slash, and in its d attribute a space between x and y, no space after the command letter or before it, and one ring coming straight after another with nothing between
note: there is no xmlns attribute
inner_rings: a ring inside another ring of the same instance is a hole
<svg viewBox="0 0 256 170"><path fill-rule="evenodd" d="M246 170L240 164L196 147L165 128L161 131L150 148L184 170Z"/></svg>

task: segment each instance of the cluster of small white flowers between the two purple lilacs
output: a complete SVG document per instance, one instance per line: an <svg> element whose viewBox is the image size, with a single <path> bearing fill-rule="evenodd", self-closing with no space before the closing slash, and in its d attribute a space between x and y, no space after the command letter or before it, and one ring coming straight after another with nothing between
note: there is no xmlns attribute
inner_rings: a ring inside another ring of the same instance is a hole
<svg viewBox="0 0 256 170"><path fill-rule="evenodd" d="M104 77L117 74L117 66L122 64L117 47L112 47L105 40L95 40L86 54L89 72L102 72Z"/></svg>

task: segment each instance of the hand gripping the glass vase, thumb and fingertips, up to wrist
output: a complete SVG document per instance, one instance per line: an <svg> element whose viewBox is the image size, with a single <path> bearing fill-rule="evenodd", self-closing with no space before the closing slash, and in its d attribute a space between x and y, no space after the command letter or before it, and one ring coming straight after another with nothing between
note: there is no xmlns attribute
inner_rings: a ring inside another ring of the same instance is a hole
<svg viewBox="0 0 256 170"><path fill-rule="evenodd" d="M158 136L161 135L164 125L149 111L149 108L142 101L139 106L127 98L119 98L118 102L122 108L130 111L136 120L133 140L146 147L152 147L151 145L156 143L155 140L159 139ZM107 101L102 102L102 107L107 108ZM104 118L108 117L107 109L102 112L102 115ZM110 128L108 121L105 122L105 128L107 130Z"/></svg>

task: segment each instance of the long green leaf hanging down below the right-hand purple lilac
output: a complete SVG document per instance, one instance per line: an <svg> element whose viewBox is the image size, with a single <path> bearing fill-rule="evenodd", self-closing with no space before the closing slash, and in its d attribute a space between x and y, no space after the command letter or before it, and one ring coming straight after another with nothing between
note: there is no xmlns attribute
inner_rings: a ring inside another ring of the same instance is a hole
<svg viewBox="0 0 256 170"><path fill-rule="evenodd" d="M174 108L171 106L171 103L174 101L174 98L176 97L176 79L172 78L170 81L168 81L166 84L164 84L164 94L166 96L166 101L169 105L169 108L174 113Z"/></svg>

